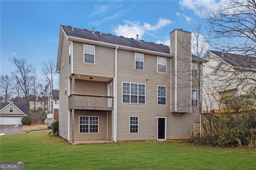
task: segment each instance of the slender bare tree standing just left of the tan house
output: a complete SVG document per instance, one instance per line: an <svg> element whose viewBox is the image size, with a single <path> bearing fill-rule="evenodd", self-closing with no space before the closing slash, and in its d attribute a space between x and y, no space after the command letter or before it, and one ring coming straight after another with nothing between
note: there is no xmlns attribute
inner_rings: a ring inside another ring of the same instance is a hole
<svg viewBox="0 0 256 170"><path fill-rule="evenodd" d="M52 59L48 59L46 62L42 62L42 73L44 75L44 78L46 78L46 81L49 83L50 86L50 95L48 96L49 103L52 100L52 89L54 84L54 76L58 73L56 72L56 62ZM51 105L52 107L52 105ZM52 110L52 108L49 108L49 110Z"/></svg>

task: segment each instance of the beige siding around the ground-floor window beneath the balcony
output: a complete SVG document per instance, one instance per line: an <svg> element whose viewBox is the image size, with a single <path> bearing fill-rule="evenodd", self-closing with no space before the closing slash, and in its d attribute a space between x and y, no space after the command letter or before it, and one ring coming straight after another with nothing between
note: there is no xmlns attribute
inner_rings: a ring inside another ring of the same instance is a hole
<svg viewBox="0 0 256 170"><path fill-rule="evenodd" d="M97 116L98 133L79 133L79 116ZM101 111L75 111L74 140L106 140L107 113ZM111 122L110 122L111 124Z"/></svg>

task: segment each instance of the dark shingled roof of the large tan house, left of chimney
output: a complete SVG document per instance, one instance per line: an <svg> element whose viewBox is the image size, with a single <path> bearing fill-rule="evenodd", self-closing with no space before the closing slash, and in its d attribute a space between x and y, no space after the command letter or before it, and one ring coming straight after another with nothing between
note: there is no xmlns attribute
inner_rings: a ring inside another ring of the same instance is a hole
<svg viewBox="0 0 256 170"><path fill-rule="evenodd" d="M115 45L124 45L128 47L134 47L139 49L146 49L150 51L157 51L161 53L170 53L168 45L162 45L152 42L144 42L143 40L134 40L133 38L125 38L123 36L113 36L111 34L104 34L100 32L94 32L80 28L74 28L70 26L60 25L67 36L73 36L78 38L84 38L88 40L94 40L99 42L111 43ZM72 28L74 31L72 31Z"/></svg>

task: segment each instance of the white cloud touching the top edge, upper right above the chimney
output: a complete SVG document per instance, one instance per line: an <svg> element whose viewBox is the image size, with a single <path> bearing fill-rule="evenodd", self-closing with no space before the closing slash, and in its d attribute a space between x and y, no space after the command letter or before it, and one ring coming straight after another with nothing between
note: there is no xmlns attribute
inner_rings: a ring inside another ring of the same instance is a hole
<svg viewBox="0 0 256 170"><path fill-rule="evenodd" d="M214 9L222 1L219 0L180 0L181 8L193 10L194 14L203 17L206 10Z"/></svg>

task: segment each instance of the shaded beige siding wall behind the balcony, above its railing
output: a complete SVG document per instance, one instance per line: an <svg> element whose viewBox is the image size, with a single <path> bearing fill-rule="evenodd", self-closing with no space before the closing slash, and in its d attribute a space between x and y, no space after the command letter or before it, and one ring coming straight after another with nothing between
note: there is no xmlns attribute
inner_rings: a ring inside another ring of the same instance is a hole
<svg viewBox="0 0 256 170"><path fill-rule="evenodd" d="M72 91L72 79L70 79L70 91ZM107 82L75 79L75 94L106 96L107 93Z"/></svg>

